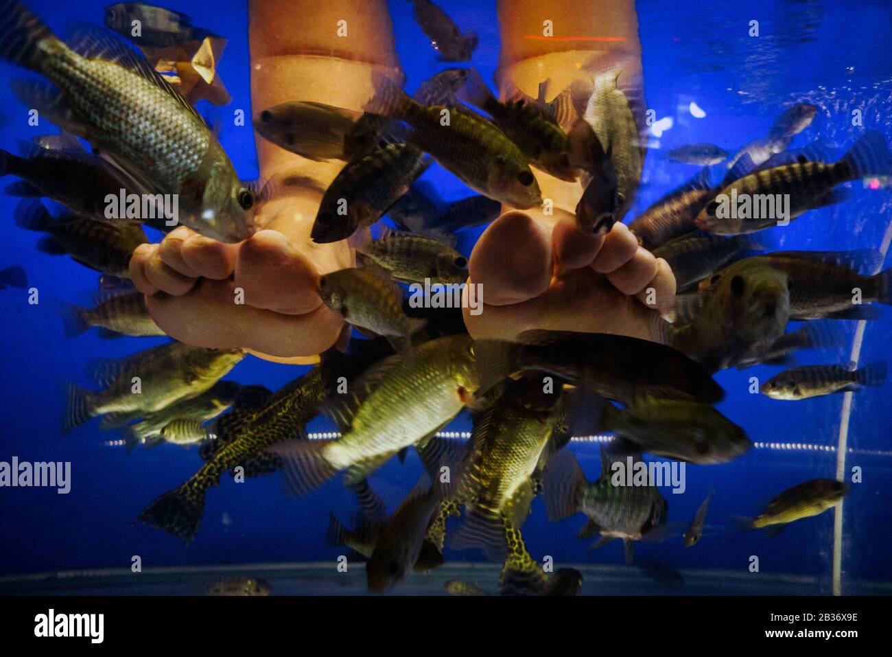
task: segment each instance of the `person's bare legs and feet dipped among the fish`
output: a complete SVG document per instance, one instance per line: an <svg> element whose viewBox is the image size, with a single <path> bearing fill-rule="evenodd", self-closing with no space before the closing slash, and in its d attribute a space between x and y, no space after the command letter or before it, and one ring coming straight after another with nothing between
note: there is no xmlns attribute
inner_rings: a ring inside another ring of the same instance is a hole
<svg viewBox="0 0 892 657"><path fill-rule="evenodd" d="M255 112L292 100L361 110L374 93L374 69L401 81L383 1L306 3L300 12L294 4L251 3ZM585 71L621 71L621 83L640 75L631 0L542 5L541 0L499 3L497 78L502 90L513 83L535 96L543 68L554 89L549 97L577 76L591 79ZM524 38L541 33L546 19L553 21L556 36L621 36L624 41ZM349 26L347 38L335 35L340 20ZM332 53L336 56L319 56ZM301 93L295 95L294 89ZM310 162L261 138L257 146L264 180L287 171L316 179L324 188L343 166ZM469 282L482 284L484 302L480 314L465 311L470 334L510 339L525 329L551 328L653 337L656 311L646 302L674 295L669 266L641 248L623 224L615 224L605 237L582 234L573 222L582 186L540 170L535 174L543 197L553 201L553 214L506 207L483 232L468 262ZM314 362L330 346L343 346L348 335L343 319L322 303L317 284L321 274L352 266L354 255L345 241L311 242L320 198L316 192L274 198L255 218L258 232L239 244L222 244L180 227L161 244L137 247L130 273L146 295L153 320L188 344L245 347L279 362ZM236 288L244 292L244 304L235 303Z"/></svg>

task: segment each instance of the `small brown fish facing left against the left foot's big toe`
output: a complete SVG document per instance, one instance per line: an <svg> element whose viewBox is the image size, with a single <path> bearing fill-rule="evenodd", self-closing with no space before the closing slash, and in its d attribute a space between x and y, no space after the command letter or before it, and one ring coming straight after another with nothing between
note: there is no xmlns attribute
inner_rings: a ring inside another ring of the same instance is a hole
<svg viewBox="0 0 892 657"><path fill-rule="evenodd" d="M411 351L412 334L425 324L403 312L401 288L374 264L322 276L319 296L352 326L386 337L399 353Z"/></svg>

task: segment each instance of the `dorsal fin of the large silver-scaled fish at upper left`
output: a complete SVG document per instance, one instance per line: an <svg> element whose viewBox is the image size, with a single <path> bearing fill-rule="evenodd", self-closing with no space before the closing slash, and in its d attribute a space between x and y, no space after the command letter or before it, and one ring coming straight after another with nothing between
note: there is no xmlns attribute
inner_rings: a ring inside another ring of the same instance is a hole
<svg viewBox="0 0 892 657"><path fill-rule="evenodd" d="M136 73L139 77L151 82L155 87L174 98L194 119L206 125L202 115L180 95L161 73L155 71L152 64L143 54L136 52L126 41L108 29L89 23L74 22L71 24L70 36L66 44L82 57L103 59L115 62L123 68Z"/></svg>

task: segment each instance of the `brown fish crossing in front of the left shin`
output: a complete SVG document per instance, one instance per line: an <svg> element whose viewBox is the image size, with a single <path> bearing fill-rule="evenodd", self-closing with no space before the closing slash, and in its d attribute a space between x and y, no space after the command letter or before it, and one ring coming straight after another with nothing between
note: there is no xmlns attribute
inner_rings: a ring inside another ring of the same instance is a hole
<svg viewBox="0 0 892 657"><path fill-rule="evenodd" d="M343 107L301 101L269 107L254 117L253 124L260 137L301 157L349 161L345 139L362 116Z"/></svg>

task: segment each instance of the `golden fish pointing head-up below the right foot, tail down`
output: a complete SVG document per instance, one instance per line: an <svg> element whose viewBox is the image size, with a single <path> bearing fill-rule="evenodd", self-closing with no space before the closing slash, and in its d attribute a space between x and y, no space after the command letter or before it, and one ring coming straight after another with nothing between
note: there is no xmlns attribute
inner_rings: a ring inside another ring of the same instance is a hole
<svg viewBox="0 0 892 657"><path fill-rule="evenodd" d="M455 493L466 519L448 536L451 548L480 548L495 561L508 558L510 532L530 512L530 477L555 428L560 392L543 392L535 379L509 380L475 423Z"/></svg>

